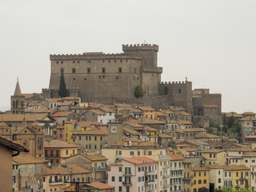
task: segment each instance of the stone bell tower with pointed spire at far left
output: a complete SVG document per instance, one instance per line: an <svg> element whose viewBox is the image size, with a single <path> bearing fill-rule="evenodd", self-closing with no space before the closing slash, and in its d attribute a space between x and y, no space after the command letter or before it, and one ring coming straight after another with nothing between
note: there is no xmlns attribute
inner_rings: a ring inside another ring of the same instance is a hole
<svg viewBox="0 0 256 192"><path fill-rule="evenodd" d="M25 96L22 95L18 80L14 90L14 95L10 97L10 109L12 114L24 114L25 112Z"/></svg>

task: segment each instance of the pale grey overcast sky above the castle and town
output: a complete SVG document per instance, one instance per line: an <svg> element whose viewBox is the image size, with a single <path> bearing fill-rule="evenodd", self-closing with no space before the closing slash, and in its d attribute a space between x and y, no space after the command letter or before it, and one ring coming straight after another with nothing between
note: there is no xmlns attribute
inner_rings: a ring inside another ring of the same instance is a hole
<svg viewBox="0 0 256 192"><path fill-rule="evenodd" d="M50 82L50 54L121 53L159 46L162 81L222 94L222 111L256 112L256 1L2 1L0 106Z"/></svg>

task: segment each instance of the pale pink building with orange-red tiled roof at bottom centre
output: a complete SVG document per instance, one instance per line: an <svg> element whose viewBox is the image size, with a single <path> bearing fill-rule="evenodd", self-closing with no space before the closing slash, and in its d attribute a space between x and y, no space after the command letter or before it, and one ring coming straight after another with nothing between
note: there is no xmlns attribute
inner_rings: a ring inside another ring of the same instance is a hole
<svg viewBox="0 0 256 192"><path fill-rule="evenodd" d="M122 158L111 164L108 184L115 192L158 191L158 161L146 157Z"/></svg>

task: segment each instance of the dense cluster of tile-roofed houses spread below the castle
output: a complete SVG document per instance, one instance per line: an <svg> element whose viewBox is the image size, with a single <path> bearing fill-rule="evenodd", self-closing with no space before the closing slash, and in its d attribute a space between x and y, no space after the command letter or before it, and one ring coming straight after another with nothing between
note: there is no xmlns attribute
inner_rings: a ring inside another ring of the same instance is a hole
<svg viewBox="0 0 256 192"><path fill-rule="evenodd" d="M13 158L13 191L198 192L210 183L256 190L254 113L223 115L224 123L240 123L238 143L208 133L178 106L25 97L18 83L14 94L12 109L0 114L0 134L29 152ZM204 119L218 110L200 107Z"/></svg>

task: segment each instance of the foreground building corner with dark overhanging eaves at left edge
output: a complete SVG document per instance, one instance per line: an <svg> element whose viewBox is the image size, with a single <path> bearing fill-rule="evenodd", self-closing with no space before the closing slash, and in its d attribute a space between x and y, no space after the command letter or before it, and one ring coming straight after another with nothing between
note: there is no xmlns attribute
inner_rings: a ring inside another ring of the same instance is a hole
<svg viewBox="0 0 256 192"><path fill-rule="evenodd" d="M17 152L17 153L14 153ZM20 152L27 152L18 142L0 136L0 185L2 191L12 191L12 158Z"/></svg>

